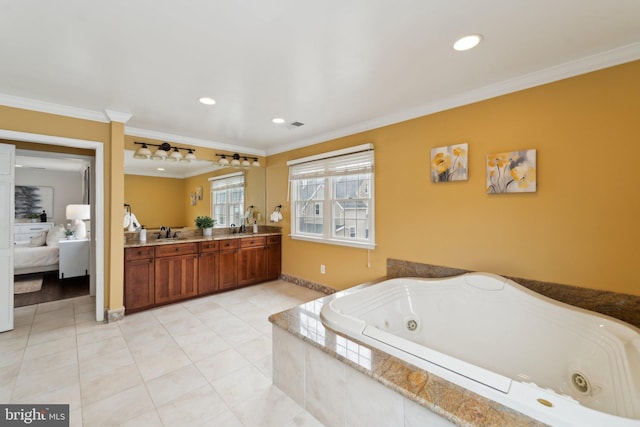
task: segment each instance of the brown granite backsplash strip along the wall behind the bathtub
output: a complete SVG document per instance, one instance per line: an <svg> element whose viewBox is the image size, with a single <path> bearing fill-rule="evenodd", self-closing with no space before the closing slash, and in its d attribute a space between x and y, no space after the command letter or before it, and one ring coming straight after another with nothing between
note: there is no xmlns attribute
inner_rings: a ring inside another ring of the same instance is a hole
<svg viewBox="0 0 640 427"><path fill-rule="evenodd" d="M471 270L387 259L387 277L447 277ZM496 272L491 272L496 273ZM496 273L500 274L500 273ZM556 301L611 316L640 328L640 296L504 276Z"/></svg>

